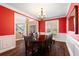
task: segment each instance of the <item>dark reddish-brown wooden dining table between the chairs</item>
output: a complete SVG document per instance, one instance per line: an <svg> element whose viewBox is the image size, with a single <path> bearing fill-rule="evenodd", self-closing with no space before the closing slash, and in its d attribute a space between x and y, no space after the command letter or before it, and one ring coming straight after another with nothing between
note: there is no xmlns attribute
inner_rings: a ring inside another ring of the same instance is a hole
<svg viewBox="0 0 79 59"><path fill-rule="evenodd" d="M34 49L38 50L38 54L42 55L47 49L45 42L46 42L46 35L39 35L37 39L32 40Z"/></svg>

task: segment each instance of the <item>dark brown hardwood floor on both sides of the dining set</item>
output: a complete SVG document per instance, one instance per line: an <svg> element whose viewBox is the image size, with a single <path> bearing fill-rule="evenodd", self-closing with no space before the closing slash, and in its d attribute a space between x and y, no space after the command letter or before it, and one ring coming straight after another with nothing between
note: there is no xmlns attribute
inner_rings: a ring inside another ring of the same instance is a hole
<svg viewBox="0 0 79 59"><path fill-rule="evenodd" d="M46 54L47 56L69 56L69 52L66 43L56 41L52 49ZM24 41L20 40L16 42L16 48L7 52L1 53L0 56L25 56Z"/></svg>

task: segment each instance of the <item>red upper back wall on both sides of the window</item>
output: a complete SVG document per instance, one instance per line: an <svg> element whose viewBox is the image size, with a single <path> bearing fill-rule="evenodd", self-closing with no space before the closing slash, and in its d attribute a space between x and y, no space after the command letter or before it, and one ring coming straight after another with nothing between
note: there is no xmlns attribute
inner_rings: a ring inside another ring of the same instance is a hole
<svg viewBox="0 0 79 59"><path fill-rule="evenodd" d="M66 17L60 17L60 18L52 18L51 19L52 21L53 20L58 20L58 32L59 33L67 33L67 26L66 26ZM51 21L50 19L48 21ZM45 29L46 29L46 21L38 21L39 25L38 25L38 29L39 29L39 32L45 32ZM53 24L53 22L52 22Z"/></svg>

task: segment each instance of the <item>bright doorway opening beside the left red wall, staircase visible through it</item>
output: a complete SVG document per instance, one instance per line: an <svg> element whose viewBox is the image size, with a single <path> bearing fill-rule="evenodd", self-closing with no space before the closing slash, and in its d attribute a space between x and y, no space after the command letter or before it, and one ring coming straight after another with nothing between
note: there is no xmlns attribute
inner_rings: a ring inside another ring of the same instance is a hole
<svg viewBox="0 0 79 59"><path fill-rule="evenodd" d="M20 15L18 13L15 13L15 36L16 41L22 40L23 35L26 34L26 17L23 15Z"/></svg>

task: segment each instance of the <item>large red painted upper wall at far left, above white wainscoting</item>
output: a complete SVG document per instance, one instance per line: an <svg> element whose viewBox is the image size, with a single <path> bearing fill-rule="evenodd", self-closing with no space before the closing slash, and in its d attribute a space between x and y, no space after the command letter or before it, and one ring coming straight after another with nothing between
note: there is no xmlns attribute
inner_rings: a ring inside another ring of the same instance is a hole
<svg viewBox="0 0 79 59"><path fill-rule="evenodd" d="M0 36L14 34L14 12L0 6Z"/></svg>

